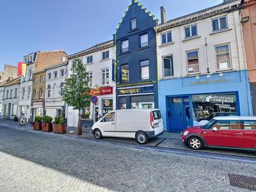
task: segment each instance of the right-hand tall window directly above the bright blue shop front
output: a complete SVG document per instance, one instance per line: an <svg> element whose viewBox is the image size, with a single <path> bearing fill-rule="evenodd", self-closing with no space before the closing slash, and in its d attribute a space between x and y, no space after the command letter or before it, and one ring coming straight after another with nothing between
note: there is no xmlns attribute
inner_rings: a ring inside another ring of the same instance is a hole
<svg viewBox="0 0 256 192"><path fill-rule="evenodd" d="M225 70L231 68L230 66L230 56L229 56L229 46L221 45L215 47L216 51L216 62L217 70Z"/></svg>

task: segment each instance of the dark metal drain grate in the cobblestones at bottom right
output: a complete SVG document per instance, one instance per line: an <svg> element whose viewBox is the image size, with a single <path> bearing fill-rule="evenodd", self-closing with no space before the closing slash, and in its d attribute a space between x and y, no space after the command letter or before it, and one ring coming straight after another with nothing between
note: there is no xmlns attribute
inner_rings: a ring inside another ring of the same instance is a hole
<svg viewBox="0 0 256 192"><path fill-rule="evenodd" d="M228 173L230 186L256 191L256 178Z"/></svg>

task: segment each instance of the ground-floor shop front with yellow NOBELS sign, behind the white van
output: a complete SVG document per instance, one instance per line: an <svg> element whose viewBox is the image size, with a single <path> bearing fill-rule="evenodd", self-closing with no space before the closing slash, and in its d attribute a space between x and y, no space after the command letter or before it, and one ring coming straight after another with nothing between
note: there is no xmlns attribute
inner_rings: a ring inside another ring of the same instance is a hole
<svg viewBox="0 0 256 192"><path fill-rule="evenodd" d="M155 87L133 86L129 88L117 88L118 109L152 109L157 107Z"/></svg>

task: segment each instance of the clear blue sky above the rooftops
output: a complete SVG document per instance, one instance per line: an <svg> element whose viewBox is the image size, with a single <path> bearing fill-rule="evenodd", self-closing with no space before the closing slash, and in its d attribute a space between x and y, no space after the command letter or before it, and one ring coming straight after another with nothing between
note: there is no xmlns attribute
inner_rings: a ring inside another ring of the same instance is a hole
<svg viewBox="0 0 256 192"><path fill-rule="evenodd" d="M0 2L0 71L17 65L35 51L64 49L67 54L110 40L130 0L8 0ZM140 0L160 20L166 20L223 0Z"/></svg>

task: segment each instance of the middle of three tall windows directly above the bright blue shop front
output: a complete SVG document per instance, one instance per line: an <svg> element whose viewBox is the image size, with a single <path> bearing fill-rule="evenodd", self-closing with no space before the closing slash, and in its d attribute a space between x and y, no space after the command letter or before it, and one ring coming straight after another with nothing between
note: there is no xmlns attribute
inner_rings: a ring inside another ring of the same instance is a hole
<svg viewBox="0 0 256 192"><path fill-rule="evenodd" d="M187 52L188 74L199 72L198 51Z"/></svg>

